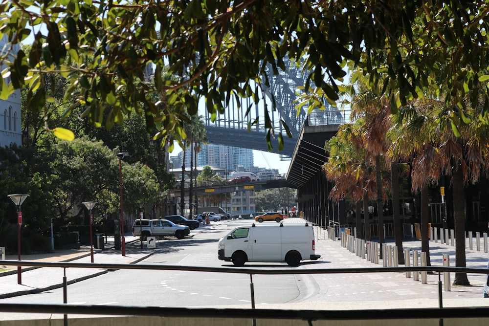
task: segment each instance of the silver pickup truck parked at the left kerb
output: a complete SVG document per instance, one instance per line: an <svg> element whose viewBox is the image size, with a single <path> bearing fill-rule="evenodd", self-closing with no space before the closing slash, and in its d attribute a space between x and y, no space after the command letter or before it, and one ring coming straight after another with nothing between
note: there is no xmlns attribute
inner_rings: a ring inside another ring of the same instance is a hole
<svg viewBox="0 0 489 326"><path fill-rule="evenodd" d="M166 219L136 219L133 224L133 236L139 237L141 232L144 238L173 236L183 239L190 234L190 228Z"/></svg>

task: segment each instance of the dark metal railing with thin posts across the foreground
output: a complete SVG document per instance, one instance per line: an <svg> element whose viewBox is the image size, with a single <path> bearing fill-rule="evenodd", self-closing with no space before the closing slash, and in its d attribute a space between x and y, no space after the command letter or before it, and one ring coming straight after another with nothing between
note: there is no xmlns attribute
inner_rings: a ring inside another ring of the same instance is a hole
<svg viewBox="0 0 489 326"><path fill-rule="evenodd" d="M406 266L406 267L371 267L371 268L318 268L318 269L249 269L249 268L225 268L225 267L192 267L176 265L156 264L108 264L108 263L76 263L76 262L38 262L38 261L2 261L8 266L33 266L63 268L63 293L65 304L3 304L0 303L2 312L39 312L86 315L117 315L117 316L164 316L164 317L188 317L193 318L238 318L238 319L291 319L306 320L312 325L315 320L386 320L386 319L439 319L443 325L444 318L488 318L489 307L450 307L443 308L442 297L442 273L474 273L489 274L486 268L462 268L445 266ZM95 269L138 269L138 270L178 270L193 272L213 272L248 274L250 276L251 308L171 308L151 306L114 306L114 305L67 305L67 268L95 268ZM255 309L253 275L284 275L284 274L341 274L341 273L391 273L391 272L434 272L438 273L438 308L415 309L358 309L348 310L284 310L284 309ZM381 313L379 313L381 311Z"/></svg>

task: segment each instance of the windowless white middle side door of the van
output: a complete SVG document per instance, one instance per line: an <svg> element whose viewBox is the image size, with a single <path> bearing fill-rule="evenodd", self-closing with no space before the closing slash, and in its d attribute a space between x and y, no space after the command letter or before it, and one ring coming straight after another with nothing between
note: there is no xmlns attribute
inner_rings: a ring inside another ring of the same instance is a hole
<svg viewBox="0 0 489 326"><path fill-rule="evenodd" d="M256 226L251 231L250 261L281 261L280 226Z"/></svg>

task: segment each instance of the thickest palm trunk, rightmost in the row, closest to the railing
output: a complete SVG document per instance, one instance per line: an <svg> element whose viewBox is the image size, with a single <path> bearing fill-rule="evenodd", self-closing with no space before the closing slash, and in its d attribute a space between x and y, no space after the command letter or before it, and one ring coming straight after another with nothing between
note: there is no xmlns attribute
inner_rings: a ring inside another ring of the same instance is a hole
<svg viewBox="0 0 489 326"><path fill-rule="evenodd" d="M465 192L464 175L459 165L453 170L453 213L455 218L455 267L467 267L465 257ZM453 285L470 285L467 273L455 273Z"/></svg>

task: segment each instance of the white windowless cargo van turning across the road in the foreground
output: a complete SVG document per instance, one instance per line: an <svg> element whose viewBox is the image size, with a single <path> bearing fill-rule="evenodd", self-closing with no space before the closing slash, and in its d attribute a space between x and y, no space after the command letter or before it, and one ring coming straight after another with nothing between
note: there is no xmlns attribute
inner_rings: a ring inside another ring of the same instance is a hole
<svg viewBox="0 0 489 326"><path fill-rule="evenodd" d="M302 260L321 258L314 253L314 230L308 223L237 227L219 240L218 256L238 266L246 261L285 261L295 267Z"/></svg>

